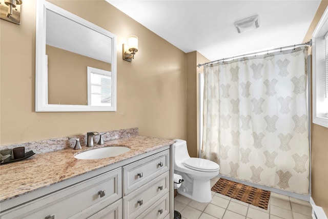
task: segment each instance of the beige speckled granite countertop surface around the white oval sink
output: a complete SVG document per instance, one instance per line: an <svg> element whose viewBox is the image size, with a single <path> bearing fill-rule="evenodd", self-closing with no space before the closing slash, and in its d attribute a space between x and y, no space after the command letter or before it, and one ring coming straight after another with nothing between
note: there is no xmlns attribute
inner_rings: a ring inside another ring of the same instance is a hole
<svg viewBox="0 0 328 219"><path fill-rule="evenodd" d="M172 140L135 135L92 148L82 146L80 150L67 148L39 153L23 161L1 165L0 202L173 143ZM129 147L131 150L115 157L98 159L96 162L74 158L77 153L113 145Z"/></svg>

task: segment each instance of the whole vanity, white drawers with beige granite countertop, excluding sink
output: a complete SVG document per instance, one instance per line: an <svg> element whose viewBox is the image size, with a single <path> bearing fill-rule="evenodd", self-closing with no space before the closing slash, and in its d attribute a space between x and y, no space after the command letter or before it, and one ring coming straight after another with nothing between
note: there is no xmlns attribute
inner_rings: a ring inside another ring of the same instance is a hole
<svg viewBox="0 0 328 219"><path fill-rule="evenodd" d="M132 135L1 165L0 217L173 218L173 143ZM111 146L130 151L97 160L74 158Z"/></svg>

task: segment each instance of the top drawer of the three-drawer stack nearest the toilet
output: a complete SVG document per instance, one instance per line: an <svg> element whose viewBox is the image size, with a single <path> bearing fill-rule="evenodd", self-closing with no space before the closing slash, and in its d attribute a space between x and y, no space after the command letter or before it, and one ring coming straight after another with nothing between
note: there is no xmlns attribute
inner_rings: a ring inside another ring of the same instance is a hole
<svg viewBox="0 0 328 219"><path fill-rule="evenodd" d="M169 156L169 150L165 150L123 167L124 195L168 171Z"/></svg>

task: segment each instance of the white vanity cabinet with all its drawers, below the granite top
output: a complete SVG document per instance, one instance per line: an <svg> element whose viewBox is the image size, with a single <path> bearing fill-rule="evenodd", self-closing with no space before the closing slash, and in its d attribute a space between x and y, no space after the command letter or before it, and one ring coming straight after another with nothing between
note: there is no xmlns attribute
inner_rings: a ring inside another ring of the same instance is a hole
<svg viewBox="0 0 328 219"><path fill-rule="evenodd" d="M167 219L171 174L170 149L154 150L13 198L0 219Z"/></svg>

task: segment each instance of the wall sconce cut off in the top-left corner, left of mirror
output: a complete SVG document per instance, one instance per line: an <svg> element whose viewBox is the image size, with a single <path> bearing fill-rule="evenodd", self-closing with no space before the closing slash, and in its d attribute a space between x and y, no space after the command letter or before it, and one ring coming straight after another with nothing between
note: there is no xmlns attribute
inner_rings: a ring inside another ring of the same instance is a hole
<svg viewBox="0 0 328 219"><path fill-rule="evenodd" d="M20 24L20 5L22 0L0 0L1 19Z"/></svg>

